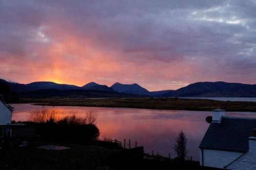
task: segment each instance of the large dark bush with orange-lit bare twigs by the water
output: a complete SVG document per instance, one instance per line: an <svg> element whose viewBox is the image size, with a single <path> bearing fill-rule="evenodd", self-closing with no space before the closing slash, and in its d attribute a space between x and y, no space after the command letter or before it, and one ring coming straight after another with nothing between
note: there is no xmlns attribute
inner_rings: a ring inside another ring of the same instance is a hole
<svg viewBox="0 0 256 170"><path fill-rule="evenodd" d="M84 143L99 137L99 129L95 122L97 115L86 113L85 117L79 117L75 113L62 116L58 109L42 107L31 112L29 122L35 128L35 134L43 140L60 142Z"/></svg>

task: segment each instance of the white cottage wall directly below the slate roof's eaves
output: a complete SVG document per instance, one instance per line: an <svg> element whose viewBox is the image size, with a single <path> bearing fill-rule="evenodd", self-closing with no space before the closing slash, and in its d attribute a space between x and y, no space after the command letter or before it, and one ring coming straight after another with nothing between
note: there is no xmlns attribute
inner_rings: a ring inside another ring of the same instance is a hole
<svg viewBox="0 0 256 170"><path fill-rule="evenodd" d="M202 152L202 151L200 151ZM229 151L219 151L219 150L203 150L203 165L210 167L223 168L228 165L243 153L240 152L229 152ZM202 153L200 153L200 164L202 165Z"/></svg>

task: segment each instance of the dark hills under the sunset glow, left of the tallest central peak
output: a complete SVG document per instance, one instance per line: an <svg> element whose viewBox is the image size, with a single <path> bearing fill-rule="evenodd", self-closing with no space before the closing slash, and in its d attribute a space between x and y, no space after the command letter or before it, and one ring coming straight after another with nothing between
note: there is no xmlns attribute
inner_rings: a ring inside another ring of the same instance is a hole
<svg viewBox="0 0 256 170"><path fill-rule="evenodd" d="M2 79L1 79L2 80ZM3 80L11 87L11 90L20 97L30 98L133 98L140 95L119 93L106 85L94 82L82 87L68 84L57 84L54 82L33 82L19 84Z"/></svg>

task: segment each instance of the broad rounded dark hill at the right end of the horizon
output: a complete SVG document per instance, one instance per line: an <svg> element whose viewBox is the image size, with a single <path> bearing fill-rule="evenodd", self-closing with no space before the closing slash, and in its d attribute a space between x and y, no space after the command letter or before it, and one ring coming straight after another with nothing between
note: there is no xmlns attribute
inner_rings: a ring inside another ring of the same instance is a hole
<svg viewBox="0 0 256 170"><path fill-rule="evenodd" d="M256 85L226 82L197 82L165 93L164 97L255 97Z"/></svg>

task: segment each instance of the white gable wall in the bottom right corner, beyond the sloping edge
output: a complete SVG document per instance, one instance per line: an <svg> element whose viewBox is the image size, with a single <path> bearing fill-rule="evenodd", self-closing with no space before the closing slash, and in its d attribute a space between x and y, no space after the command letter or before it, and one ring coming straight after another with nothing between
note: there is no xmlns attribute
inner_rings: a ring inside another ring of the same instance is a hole
<svg viewBox="0 0 256 170"><path fill-rule="evenodd" d="M256 169L256 140L249 140L249 151L237 161L230 164L227 168L232 170Z"/></svg>

